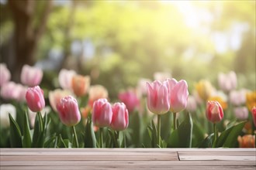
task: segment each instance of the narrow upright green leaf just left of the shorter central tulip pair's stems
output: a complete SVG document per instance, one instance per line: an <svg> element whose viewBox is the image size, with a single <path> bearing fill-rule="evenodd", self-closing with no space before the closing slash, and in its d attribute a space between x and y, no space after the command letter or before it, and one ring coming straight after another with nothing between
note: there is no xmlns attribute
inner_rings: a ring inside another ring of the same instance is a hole
<svg viewBox="0 0 256 170"><path fill-rule="evenodd" d="M88 117L87 124L85 126L85 148L97 148L97 141L90 117Z"/></svg>

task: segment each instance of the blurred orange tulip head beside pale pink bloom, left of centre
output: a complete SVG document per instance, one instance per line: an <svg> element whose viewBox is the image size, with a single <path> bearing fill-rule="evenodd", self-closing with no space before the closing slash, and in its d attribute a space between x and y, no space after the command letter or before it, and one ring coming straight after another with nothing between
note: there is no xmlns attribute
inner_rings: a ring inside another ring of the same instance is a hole
<svg viewBox="0 0 256 170"><path fill-rule="evenodd" d="M90 77L74 75L72 78L72 89L77 97L84 96L90 86Z"/></svg>

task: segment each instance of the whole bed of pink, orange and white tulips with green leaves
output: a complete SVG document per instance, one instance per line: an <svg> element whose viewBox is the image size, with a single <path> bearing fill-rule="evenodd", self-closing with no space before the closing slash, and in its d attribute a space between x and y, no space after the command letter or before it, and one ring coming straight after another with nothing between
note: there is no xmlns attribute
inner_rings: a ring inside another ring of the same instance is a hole
<svg viewBox="0 0 256 170"><path fill-rule="evenodd" d="M234 72L220 73L222 94L207 80L189 94L185 80L156 73L153 82L140 80L137 90L110 102L105 87L91 86L89 76L74 70L61 70L61 88L47 95L40 87L42 70L23 66L22 84L10 81L5 64L0 70L1 98L15 105L0 107L0 131L8 131L1 147L255 147L256 92L234 90ZM224 95L230 97L228 109Z"/></svg>

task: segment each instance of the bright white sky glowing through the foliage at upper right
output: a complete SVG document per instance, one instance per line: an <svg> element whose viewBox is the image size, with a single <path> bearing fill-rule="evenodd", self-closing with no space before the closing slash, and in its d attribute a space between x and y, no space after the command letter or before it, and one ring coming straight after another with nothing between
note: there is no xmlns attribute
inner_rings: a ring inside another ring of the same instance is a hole
<svg viewBox="0 0 256 170"><path fill-rule="evenodd" d="M182 15L185 23L191 29L200 29L202 33L209 34L210 28L202 26L201 23L213 22L213 15L206 8L195 7L193 1L161 1L164 4L175 5ZM202 2L209 3L209 2ZM221 8L217 8L221 12ZM236 23L228 32L214 32L210 37L213 39L216 52L225 53L228 49L237 50L240 48L242 34L248 29L247 24Z"/></svg>

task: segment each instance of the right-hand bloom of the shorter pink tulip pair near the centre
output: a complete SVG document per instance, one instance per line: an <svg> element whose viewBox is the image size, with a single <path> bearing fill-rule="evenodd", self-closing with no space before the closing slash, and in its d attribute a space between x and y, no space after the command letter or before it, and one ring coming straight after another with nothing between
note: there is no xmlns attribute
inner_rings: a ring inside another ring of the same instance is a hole
<svg viewBox="0 0 256 170"><path fill-rule="evenodd" d="M115 131L122 131L128 127L129 114L126 105L116 103L112 106L112 121L111 128Z"/></svg>

